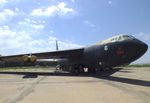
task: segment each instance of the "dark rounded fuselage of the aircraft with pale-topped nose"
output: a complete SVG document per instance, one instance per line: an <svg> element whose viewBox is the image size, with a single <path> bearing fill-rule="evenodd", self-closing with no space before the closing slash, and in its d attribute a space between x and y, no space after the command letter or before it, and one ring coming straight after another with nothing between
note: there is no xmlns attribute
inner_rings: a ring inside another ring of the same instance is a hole
<svg viewBox="0 0 150 103"><path fill-rule="evenodd" d="M137 60L147 49L148 46L144 42L133 36L119 35L85 47L82 56L60 60L60 63L83 65L86 68L116 67Z"/></svg>

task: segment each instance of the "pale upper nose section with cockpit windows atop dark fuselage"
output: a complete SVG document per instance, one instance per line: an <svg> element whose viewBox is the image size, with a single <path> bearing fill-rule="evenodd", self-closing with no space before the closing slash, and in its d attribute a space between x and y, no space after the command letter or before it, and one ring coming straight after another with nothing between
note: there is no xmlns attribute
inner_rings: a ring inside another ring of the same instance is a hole
<svg viewBox="0 0 150 103"><path fill-rule="evenodd" d="M131 40L131 39L134 39L134 37L131 35L117 35L117 36L108 38L106 40L103 40L99 42L98 44L107 44L107 43L119 42L119 41L124 41L124 40Z"/></svg>

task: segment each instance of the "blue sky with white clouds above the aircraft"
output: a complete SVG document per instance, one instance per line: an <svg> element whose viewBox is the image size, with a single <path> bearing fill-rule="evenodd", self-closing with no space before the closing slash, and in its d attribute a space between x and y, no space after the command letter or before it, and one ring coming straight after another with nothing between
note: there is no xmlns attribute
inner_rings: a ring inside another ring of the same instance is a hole
<svg viewBox="0 0 150 103"><path fill-rule="evenodd" d="M150 46L149 0L0 0L0 54L95 44L118 34ZM135 63L150 63L150 49Z"/></svg>

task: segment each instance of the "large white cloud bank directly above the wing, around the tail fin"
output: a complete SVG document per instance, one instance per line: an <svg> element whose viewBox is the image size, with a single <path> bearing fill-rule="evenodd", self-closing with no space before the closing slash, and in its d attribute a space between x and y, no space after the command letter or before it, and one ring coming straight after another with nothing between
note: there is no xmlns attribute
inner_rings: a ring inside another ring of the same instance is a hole
<svg viewBox="0 0 150 103"><path fill-rule="evenodd" d="M70 41L61 41L53 36L46 38L44 34L41 34L42 38L35 39L35 35L34 31L15 31L8 26L0 27L0 54L10 55L55 50L55 40L58 40L60 49L80 47L80 45Z"/></svg>

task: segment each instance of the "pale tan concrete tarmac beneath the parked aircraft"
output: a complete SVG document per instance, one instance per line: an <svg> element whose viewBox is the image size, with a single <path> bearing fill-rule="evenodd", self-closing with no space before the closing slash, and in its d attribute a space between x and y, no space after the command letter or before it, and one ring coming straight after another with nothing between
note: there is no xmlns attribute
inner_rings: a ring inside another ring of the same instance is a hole
<svg viewBox="0 0 150 103"><path fill-rule="evenodd" d="M149 67L80 75L39 71L0 71L0 103L150 103Z"/></svg>

